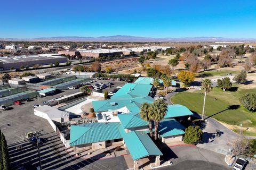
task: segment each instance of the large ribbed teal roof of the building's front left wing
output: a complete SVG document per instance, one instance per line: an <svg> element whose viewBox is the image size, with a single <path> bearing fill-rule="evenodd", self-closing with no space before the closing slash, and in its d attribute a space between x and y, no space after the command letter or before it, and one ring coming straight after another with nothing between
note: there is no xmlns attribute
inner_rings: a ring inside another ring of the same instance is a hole
<svg viewBox="0 0 256 170"><path fill-rule="evenodd" d="M119 122L71 125L70 146L121 139Z"/></svg>

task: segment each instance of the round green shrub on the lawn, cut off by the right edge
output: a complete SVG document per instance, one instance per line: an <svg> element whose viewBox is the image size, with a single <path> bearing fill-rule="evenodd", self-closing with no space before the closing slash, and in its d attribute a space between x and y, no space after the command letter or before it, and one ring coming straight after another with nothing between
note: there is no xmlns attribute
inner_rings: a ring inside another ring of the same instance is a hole
<svg viewBox="0 0 256 170"><path fill-rule="evenodd" d="M256 111L256 94L247 93L240 98L240 101L249 111Z"/></svg>

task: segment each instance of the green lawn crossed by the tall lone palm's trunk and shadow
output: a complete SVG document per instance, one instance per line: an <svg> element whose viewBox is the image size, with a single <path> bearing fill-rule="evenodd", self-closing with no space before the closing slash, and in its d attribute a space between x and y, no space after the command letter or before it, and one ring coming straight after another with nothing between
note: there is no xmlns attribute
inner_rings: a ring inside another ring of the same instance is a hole
<svg viewBox="0 0 256 170"><path fill-rule="evenodd" d="M202 94L199 94L199 92ZM216 120L230 125L239 126L242 123L245 128L253 127L256 129L256 113L247 111L247 109L239 103L239 97L246 92L256 93L256 89L238 88L237 91L223 92L220 88L213 88L206 96L205 115L212 116ZM217 100L214 100L214 98L217 98ZM198 114L202 114L203 99L203 91L179 92L171 98L174 104L185 105L191 111L197 112ZM234 129L234 131L236 131L236 129ZM245 131L244 134L256 135L256 131Z"/></svg>

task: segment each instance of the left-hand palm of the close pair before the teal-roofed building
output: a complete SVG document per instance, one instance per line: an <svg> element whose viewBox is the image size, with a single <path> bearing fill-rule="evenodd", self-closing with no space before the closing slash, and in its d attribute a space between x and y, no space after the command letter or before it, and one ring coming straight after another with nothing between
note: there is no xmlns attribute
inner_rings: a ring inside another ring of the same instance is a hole
<svg viewBox="0 0 256 170"><path fill-rule="evenodd" d="M142 103L140 107L140 116L143 120L149 123L149 131L150 137L153 137L153 127L152 127L152 119L151 119L151 104L145 102Z"/></svg>

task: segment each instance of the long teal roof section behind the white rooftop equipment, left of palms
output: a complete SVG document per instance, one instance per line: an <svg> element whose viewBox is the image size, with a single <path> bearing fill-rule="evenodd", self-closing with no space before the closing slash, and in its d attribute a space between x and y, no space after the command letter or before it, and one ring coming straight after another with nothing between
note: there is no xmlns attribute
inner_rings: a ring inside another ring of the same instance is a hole
<svg viewBox="0 0 256 170"><path fill-rule="evenodd" d="M143 102L152 103L154 101L150 96L135 97L135 98L115 98L110 100L92 101L92 106L95 112L105 112L116 110L127 106L131 103L142 104ZM114 105L113 105L114 104Z"/></svg>

